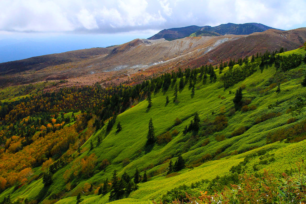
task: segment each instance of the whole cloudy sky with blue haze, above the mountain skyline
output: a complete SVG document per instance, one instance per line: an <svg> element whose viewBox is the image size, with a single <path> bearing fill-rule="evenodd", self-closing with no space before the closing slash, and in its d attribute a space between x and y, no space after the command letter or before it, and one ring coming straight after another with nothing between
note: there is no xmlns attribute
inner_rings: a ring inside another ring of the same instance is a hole
<svg viewBox="0 0 306 204"><path fill-rule="evenodd" d="M165 28L306 27L305 0L1 0L0 62L148 38Z"/></svg>

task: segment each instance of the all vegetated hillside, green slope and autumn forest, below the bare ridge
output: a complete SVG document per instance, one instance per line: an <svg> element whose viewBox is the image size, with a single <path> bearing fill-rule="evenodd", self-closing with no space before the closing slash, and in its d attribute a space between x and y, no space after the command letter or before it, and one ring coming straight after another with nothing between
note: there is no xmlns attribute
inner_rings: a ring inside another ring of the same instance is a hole
<svg viewBox="0 0 306 204"><path fill-rule="evenodd" d="M0 202L302 200L304 55L3 101Z"/></svg>

